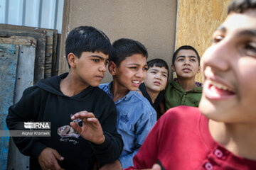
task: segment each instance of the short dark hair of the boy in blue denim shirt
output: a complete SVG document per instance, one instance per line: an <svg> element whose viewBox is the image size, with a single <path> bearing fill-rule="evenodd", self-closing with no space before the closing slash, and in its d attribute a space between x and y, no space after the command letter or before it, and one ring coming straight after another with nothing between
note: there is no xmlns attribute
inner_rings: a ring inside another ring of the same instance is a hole
<svg viewBox="0 0 256 170"><path fill-rule="evenodd" d="M114 41L112 46L113 51L110 55L110 61L114 62L114 64L117 64L117 67L119 67L121 62L125 60L127 57L130 57L135 54L141 54L144 57L146 57L146 59L148 57L146 47L137 40L121 38L119 40Z"/></svg>

